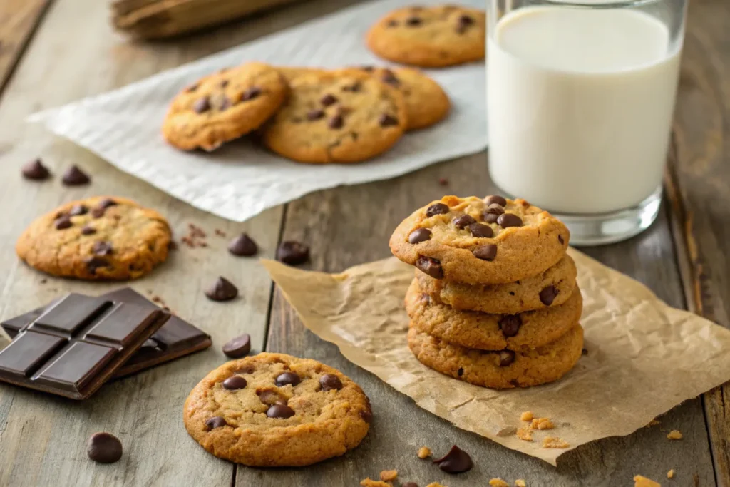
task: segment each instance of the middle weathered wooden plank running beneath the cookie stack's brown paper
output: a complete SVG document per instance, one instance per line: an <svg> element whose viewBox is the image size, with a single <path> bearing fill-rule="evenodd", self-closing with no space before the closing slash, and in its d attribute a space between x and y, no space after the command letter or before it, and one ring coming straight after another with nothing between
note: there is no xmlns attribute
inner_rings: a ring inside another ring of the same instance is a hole
<svg viewBox="0 0 730 487"><path fill-rule="evenodd" d="M450 185L440 186L439 177L447 177ZM301 239L312 246L312 269L337 272L388 256L391 231L416 207L444 193L469 195L492 191L485 155L478 154L396 180L306 196L288 205L283 237ZM647 283L670 304L683 307L664 212L645 234L588 253ZM274 470L264 475L259 470L239 467L237 485L240 487L356 485L368 475L372 477L381 469L391 468L401 472L402 480L414 480L420 486L434 480L445 480L445 485L450 487L482 486L498 476L510 482L524 478L533 486L624 486L631 485L631 478L639 473L656 480L665 479L669 469L677 472L674 480L677 485L693 485L695 476L699 485L715 483L702 404L697 399L669 412L661 418L660 426L641 429L628 437L593 442L567 453L558 461L558 469L554 469L476 434L456 429L415 407L407 396L350 364L334 345L305 331L278 291L274 296L267 350L316 358L345 372L363 386L372 400L374 422L363 444L341 459L327 461L316 468ZM685 434L681 444L666 439L669 429L680 429ZM415 456L421 445L429 445L441 453L453 443L475 459L477 467L472 472L448 476Z"/></svg>

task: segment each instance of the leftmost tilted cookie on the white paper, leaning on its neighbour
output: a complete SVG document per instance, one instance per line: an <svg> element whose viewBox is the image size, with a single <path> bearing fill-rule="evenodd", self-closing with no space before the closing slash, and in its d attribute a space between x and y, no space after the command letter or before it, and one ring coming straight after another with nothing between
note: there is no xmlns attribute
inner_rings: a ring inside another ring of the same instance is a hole
<svg viewBox="0 0 730 487"><path fill-rule="evenodd" d="M178 149L214 150L258 129L281 106L287 84L263 63L247 63L204 77L175 96L162 125Z"/></svg>

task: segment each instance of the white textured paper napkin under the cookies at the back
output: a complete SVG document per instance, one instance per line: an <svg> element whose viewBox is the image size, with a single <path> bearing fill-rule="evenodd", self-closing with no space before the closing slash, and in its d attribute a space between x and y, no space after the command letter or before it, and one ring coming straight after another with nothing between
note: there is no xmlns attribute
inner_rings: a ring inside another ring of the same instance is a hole
<svg viewBox="0 0 730 487"><path fill-rule="evenodd" d="M481 0L461 3L484 7ZM246 138L210 154L184 153L162 139L162 120L174 95L223 67L244 61L333 68L385 64L367 50L365 33L381 15L402 5L400 0L382 0L343 9L125 88L36 113L29 120L44 123L55 134L194 207L234 221L318 189L396 177L483 150L487 145L483 63L430 70L429 76L453 103L449 117L406 134L383 156L366 163L298 164Z"/></svg>

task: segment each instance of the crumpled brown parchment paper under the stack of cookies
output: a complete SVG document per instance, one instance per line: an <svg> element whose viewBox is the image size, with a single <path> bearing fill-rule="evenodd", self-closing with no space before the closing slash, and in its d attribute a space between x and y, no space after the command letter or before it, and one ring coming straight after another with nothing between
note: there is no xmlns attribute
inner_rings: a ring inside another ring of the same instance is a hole
<svg viewBox="0 0 730 487"><path fill-rule="evenodd" d="M507 448L556 465L599 438L646 426L685 399L730 380L730 331L661 302L641 283L570 249L583 291L588 353L561 380L494 391L434 372L410 352L404 309L413 267L396 258L341 274L262 261L304 325L418 406ZM553 418L556 429L515 436L520 413ZM569 442L542 448L545 436Z"/></svg>

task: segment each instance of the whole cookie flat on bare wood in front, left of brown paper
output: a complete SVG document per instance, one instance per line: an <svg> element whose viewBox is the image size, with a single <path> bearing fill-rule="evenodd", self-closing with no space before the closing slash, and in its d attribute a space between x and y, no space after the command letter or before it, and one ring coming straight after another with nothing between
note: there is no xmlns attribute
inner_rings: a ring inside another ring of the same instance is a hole
<svg viewBox="0 0 730 487"><path fill-rule="evenodd" d="M372 419L362 389L308 358L259 353L221 365L193 388L183 421L221 459L301 467L343 455Z"/></svg>

